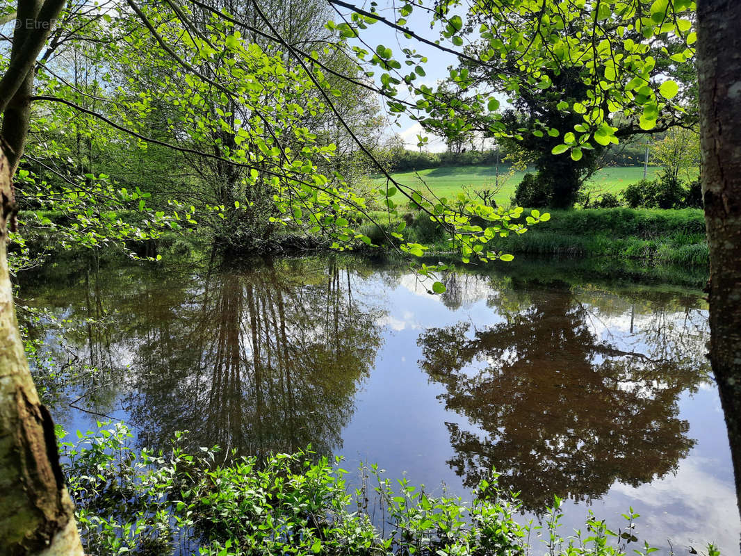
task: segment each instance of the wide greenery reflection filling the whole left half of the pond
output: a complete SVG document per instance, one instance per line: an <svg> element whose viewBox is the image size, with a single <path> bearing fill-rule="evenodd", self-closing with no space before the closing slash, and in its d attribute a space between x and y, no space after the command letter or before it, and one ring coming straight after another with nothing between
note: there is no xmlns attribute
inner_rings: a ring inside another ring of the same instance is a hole
<svg viewBox="0 0 741 556"><path fill-rule="evenodd" d="M382 344L380 311L355 299L348 268L306 259L139 270L112 272L93 257L67 278L76 293L56 298L57 313L82 319L67 342L99 372L57 396L57 414L82 393L79 405L103 416L118 394L142 446L187 430L191 446L241 454L342 448Z"/></svg>

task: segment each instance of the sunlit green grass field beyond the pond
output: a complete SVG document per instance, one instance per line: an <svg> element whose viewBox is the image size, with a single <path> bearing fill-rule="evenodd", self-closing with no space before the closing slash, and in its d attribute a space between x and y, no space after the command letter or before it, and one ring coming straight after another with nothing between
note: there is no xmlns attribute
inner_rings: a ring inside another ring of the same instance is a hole
<svg viewBox="0 0 741 556"><path fill-rule="evenodd" d="M508 168L499 167L500 182ZM648 179L654 179L660 168L648 167ZM441 166L420 170L419 172L399 172L392 174L399 183L409 185L413 188L430 188L436 196L456 196L462 188L471 190L482 188L493 188L496 181L496 168L494 166ZM523 172L514 173L497 193L496 202L507 205L510 197L514 195L516 185L522 180ZM643 168L637 166L602 168L588 182L597 191L607 193L619 193L625 186L637 182L643 178ZM376 179L381 184L383 179Z"/></svg>

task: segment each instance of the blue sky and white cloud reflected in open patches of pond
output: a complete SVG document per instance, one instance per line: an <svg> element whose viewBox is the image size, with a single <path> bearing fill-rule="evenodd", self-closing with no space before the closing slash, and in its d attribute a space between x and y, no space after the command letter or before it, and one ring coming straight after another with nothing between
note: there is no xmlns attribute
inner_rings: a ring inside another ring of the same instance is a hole
<svg viewBox="0 0 741 556"><path fill-rule="evenodd" d="M398 279L352 277L351 285L357 299L384 309L375 320L376 325L382 327L384 342L376 354L371 376L360 383L354 412L342 430L342 446L337 449L338 453L345 454L345 469L353 471L348 475L350 482L357 475L354 470L359 462L365 461L378 463L386 470L387 477L405 475L413 484L424 483L433 494L441 493L441 483L448 486L451 494L465 494L468 489L447 464L454 451L446 423L459 424L482 437L486 433L469 424L465 416L445 409L445 403L438 399L445 393L445 385L433 382L419 369L422 348L417 340L429 327L469 322L472 326L468 337L471 337L474 328L482 330L504 322L505 318L497 314L496 308L488 305L496 299L497 292L488 287L488 279L468 276L461 295L452 305L456 308L448 308L440 297L428 295L425 286L411 276ZM614 298L609 301L628 307L627 311L611 312L589 306L588 296L580 296L579 291L575 295L588 310L585 321L600 341L606 340L625 351L650 351L651 345L641 334L651 322L650 314L634 314L635 334L630 334L628 300L605 294L605 299ZM681 323L685 319L682 310L680 307L674 308L674 312L667 311L666 320ZM704 325L704 312L697 309L691 312L693 326ZM121 363L126 365L135 359L131 351L134 348L128 342L115 346ZM601 363L602 360L602 355L595 354L592 362ZM472 365L479 369L491 363L491 360L474 359ZM126 382L124 388L136 388L135 383ZM109 414L125 420L127 412L122 404L114 406ZM102 418L78 411L70 411L65 417L64 426L70 431L94 428L96 419ZM714 386L701 384L695 394L682 394L679 418L688 421L688 437L697 443L688 457L679 462L676 474L670 473L637 488L614 483L607 496L589 505L567 500L562 532L568 534L583 526L587 509L592 509L597 517L606 518L608 524L617 529L623 524L620 514L632 506L641 514L638 520L640 540L667 547L666 539L671 539L678 554L682 554L685 546L701 550L706 542L713 541L720 545L724 554L735 553L741 524L725 424ZM136 435L136 429L132 432Z"/></svg>

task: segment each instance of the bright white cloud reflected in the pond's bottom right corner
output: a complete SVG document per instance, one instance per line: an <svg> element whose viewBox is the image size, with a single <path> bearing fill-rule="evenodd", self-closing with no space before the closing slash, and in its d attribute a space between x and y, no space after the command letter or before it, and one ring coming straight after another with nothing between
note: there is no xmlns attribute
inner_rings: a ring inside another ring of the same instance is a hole
<svg viewBox="0 0 741 556"><path fill-rule="evenodd" d="M688 457L679 463L677 474L669 474L635 489L616 483L611 493L636 500L636 506L648 506L639 518L639 531L656 535L663 532L675 548L694 546L704 552L707 543L716 543L722 554L734 553L741 528L733 485L714 477L711 469L717 461ZM731 526L731 524L734 524Z"/></svg>

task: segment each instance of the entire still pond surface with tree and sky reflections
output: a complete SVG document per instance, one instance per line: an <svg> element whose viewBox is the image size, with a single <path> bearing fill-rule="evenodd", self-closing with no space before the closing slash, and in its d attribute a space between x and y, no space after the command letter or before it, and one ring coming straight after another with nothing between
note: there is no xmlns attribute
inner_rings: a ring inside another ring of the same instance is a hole
<svg viewBox="0 0 741 556"><path fill-rule="evenodd" d="M36 381L67 431L114 418L154 448L180 430L242 454L311 444L463 497L494 466L525 520L564 498L567 535L589 509L617 529L632 506L662 552L737 552L700 291L568 263L443 281L432 296L405 265L353 258L89 257L21 277L19 318L46 344Z"/></svg>

